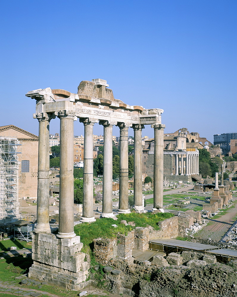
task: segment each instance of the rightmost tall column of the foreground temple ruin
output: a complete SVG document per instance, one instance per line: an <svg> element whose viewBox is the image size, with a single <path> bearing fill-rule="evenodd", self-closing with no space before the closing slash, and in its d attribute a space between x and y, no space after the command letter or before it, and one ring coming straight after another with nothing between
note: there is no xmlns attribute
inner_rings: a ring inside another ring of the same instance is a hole
<svg viewBox="0 0 237 297"><path fill-rule="evenodd" d="M154 124L154 209L163 211L163 172L164 172L164 128L163 124Z"/></svg>

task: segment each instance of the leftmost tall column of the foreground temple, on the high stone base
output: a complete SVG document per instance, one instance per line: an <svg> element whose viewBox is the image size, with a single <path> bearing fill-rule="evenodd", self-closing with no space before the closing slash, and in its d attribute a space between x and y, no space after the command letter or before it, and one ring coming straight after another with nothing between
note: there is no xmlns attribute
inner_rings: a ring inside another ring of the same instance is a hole
<svg viewBox="0 0 237 297"><path fill-rule="evenodd" d="M55 119L52 113L37 113L39 121L37 224L35 233L51 233L49 226L49 122Z"/></svg>

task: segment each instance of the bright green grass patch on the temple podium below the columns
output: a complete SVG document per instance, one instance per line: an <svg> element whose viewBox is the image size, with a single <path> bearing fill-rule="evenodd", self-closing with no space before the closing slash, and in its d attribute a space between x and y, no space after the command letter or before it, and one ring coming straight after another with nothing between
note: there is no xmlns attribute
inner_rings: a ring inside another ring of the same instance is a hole
<svg viewBox="0 0 237 297"><path fill-rule="evenodd" d="M158 230L158 222L170 217L173 217L170 213L137 214L135 212L131 212L130 214L119 214L117 216L117 221L114 221L111 218L102 218L97 219L96 222L93 223L76 225L74 227L74 232L81 237L81 242L83 244L89 246L93 242L94 238L115 238L118 233L127 235L127 233L132 231L135 227L146 227L149 225ZM136 226L125 226L124 224L121 224L121 220L135 222ZM111 226L113 224L116 224L118 227L114 228Z"/></svg>

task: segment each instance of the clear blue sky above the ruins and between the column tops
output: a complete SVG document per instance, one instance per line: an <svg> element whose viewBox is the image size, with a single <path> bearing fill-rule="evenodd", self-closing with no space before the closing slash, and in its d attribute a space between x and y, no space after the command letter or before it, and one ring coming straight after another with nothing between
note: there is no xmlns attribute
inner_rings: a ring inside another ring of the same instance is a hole
<svg viewBox="0 0 237 297"><path fill-rule="evenodd" d="M102 78L115 98L164 109L165 133L187 127L213 141L237 131L236 0L13 0L0 7L1 126L38 135L27 91L76 93L81 80ZM58 119L50 132L59 132ZM81 123L74 134L84 134ZM152 137L152 129L143 135Z"/></svg>

